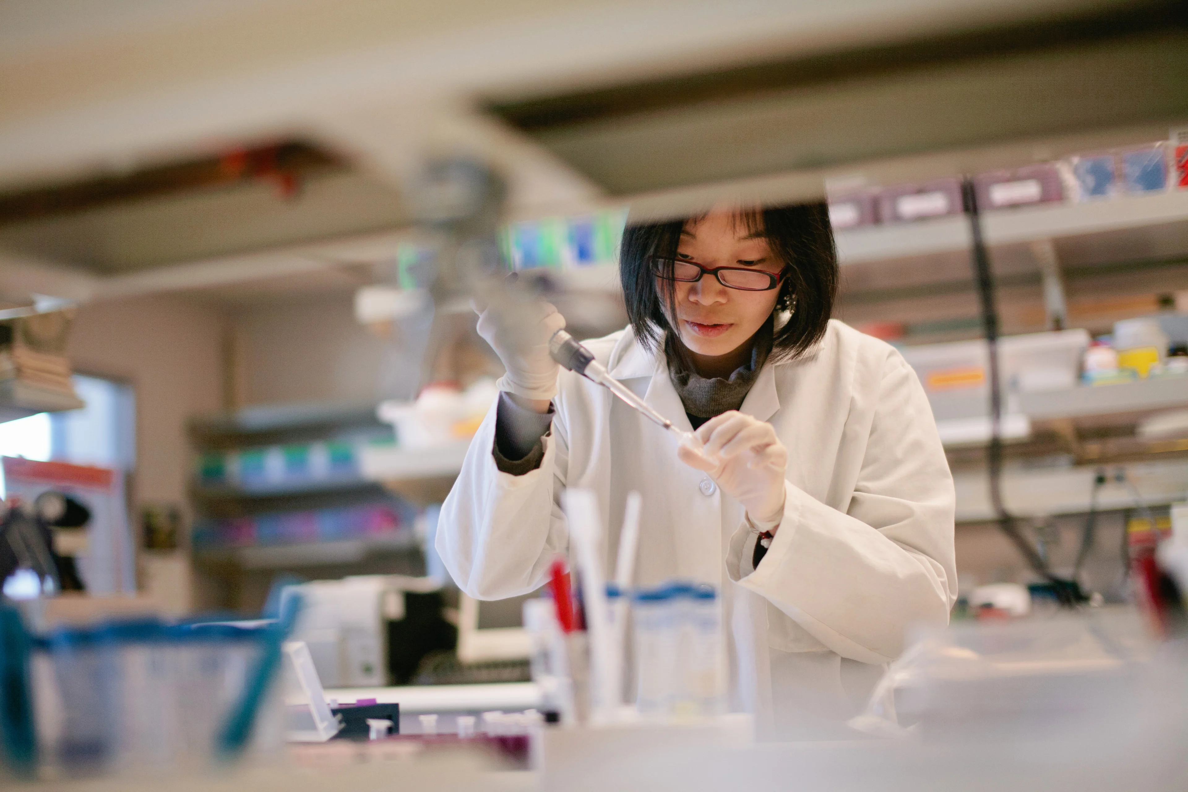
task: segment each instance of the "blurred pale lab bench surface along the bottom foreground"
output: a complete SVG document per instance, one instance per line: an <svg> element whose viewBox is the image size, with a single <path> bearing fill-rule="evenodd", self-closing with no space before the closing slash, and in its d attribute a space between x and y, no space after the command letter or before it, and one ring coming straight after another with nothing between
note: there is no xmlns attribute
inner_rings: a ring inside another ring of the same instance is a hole
<svg viewBox="0 0 1188 792"><path fill-rule="evenodd" d="M1089 746L1060 755L1025 745L921 743L904 740L830 742L740 741L727 729L555 729L543 737L544 764L514 769L481 748L434 749L392 737L318 746L283 761L226 774L170 778L170 792L1114 792L1182 790L1183 767L1136 755L1097 759ZM737 729L735 729L737 730ZM15 785L62 792L150 792L160 779L95 779Z"/></svg>

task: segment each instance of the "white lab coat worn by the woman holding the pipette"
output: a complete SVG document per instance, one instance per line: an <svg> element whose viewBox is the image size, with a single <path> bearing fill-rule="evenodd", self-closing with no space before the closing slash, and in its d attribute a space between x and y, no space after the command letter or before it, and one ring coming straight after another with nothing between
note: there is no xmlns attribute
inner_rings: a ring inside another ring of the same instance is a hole
<svg viewBox="0 0 1188 792"><path fill-rule="evenodd" d="M586 343L624 385L690 429L662 351L630 328ZM891 346L830 321L813 354L769 361L741 411L788 446L786 505L759 568L742 507L676 457L676 439L605 388L562 370L541 467L501 473L492 407L442 506L436 546L459 587L492 600L532 591L568 550L561 493L593 490L609 522L607 569L628 492L643 494L636 584L715 583L731 705L777 739L853 736L914 623L944 625L956 596L954 493L928 399Z"/></svg>

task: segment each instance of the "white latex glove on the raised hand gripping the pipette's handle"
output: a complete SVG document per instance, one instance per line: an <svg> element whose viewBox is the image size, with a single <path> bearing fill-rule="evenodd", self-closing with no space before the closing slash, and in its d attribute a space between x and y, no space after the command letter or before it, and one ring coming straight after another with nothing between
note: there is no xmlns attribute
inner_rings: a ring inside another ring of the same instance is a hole
<svg viewBox="0 0 1188 792"><path fill-rule="evenodd" d="M557 395L561 367L549 355L549 340L565 327L565 317L556 306L543 300L518 305L514 322L511 322L498 315L494 306L484 309L473 302L470 305L479 315L479 335L507 369L495 384L499 389L542 401Z"/></svg>

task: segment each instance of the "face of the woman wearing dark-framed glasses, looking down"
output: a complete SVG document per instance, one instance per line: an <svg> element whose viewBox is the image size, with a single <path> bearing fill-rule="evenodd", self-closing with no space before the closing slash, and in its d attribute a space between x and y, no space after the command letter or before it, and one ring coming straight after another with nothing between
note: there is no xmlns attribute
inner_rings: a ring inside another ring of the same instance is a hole
<svg viewBox="0 0 1188 792"><path fill-rule="evenodd" d="M707 268L745 267L772 274L784 268L762 233L747 230L747 223L731 211L713 211L685 223L677 258ZM665 286L664 281L657 283L662 294ZM778 289L727 289L712 274L703 274L696 283L677 281L675 286L676 316L669 318L684 346L707 357L727 355L750 341L771 316L779 294Z"/></svg>

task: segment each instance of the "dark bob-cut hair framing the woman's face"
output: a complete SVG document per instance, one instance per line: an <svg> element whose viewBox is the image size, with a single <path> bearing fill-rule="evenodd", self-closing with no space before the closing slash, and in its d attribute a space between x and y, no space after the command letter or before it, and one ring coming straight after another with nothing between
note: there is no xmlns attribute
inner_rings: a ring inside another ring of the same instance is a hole
<svg viewBox="0 0 1188 792"><path fill-rule="evenodd" d="M676 302L672 281L666 281L666 293L657 290L649 260L676 258L685 223L704 216L637 226L628 222L623 234L619 278L631 327L647 349L655 349L671 329L668 315ZM838 292L838 253L828 209L824 203L740 209L737 218L748 232L762 233L788 270L776 311L791 306L792 312L776 330L771 355L776 360L798 357L824 336Z"/></svg>

